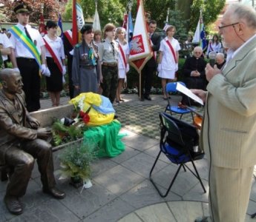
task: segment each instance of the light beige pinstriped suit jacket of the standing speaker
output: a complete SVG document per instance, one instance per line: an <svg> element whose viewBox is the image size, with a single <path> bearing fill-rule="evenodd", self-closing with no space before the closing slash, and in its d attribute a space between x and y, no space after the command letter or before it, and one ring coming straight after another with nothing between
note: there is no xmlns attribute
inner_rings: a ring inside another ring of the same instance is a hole
<svg viewBox="0 0 256 222"><path fill-rule="evenodd" d="M203 149L214 166L256 164L256 38L208 84ZM210 158L210 157L209 157Z"/></svg>

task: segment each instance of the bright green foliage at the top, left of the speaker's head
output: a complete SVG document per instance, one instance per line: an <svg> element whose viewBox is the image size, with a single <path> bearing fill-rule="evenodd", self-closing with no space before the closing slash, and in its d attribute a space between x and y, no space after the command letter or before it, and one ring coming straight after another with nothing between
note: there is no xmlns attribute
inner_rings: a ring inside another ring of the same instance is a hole
<svg viewBox="0 0 256 222"><path fill-rule="evenodd" d="M220 14L221 10L226 4L226 0L193 0L191 5L191 19L190 27L195 29L197 27L197 22L200 17L200 10L203 13L203 23L205 25L211 24L216 21L217 16Z"/></svg>

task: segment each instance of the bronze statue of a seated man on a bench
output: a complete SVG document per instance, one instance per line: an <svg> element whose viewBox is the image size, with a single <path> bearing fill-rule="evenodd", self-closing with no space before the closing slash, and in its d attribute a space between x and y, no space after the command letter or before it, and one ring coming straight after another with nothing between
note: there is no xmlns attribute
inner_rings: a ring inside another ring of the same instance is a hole
<svg viewBox="0 0 256 222"><path fill-rule="evenodd" d="M0 165L12 167L4 203L15 214L22 214L19 201L27 189L35 159L41 173L42 191L54 198L65 198L53 175L51 145L45 141L51 132L27 112L22 76L13 69L0 71Z"/></svg>

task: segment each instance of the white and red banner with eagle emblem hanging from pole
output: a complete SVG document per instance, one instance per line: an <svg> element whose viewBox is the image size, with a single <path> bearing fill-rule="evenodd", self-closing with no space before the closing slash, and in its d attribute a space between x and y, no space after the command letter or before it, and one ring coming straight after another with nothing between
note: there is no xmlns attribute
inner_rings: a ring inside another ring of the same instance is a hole
<svg viewBox="0 0 256 222"><path fill-rule="evenodd" d="M131 39L129 63L138 73L145 66L145 63L152 57L151 44L145 23L145 13L142 0L137 12L134 25L134 36Z"/></svg>

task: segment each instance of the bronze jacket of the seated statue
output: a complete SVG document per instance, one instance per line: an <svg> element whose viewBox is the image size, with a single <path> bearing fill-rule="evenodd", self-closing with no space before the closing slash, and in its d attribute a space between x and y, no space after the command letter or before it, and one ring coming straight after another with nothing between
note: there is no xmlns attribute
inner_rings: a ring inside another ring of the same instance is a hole
<svg viewBox="0 0 256 222"><path fill-rule="evenodd" d="M22 105L22 122L19 121L15 107L8 102L8 98L0 91L0 165L4 164L4 154L13 144L18 144L24 139L33 140L37 138L35 129L27 126L29 112L24 107L24 93L16 94L16 98Z"/></svg>

